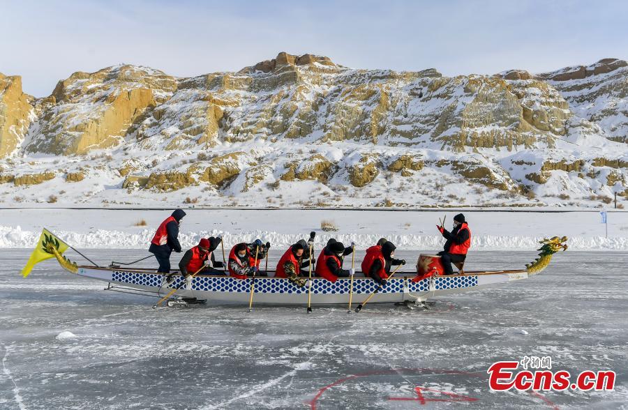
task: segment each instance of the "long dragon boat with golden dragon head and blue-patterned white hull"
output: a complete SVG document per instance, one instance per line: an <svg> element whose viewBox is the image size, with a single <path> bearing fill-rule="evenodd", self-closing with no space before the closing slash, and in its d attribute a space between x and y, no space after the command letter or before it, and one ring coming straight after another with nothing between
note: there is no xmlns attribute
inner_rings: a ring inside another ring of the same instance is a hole
<svg viewBox="0 0 628 410"><path fill-rule="evenodd" d="M255 305L297 305L307 300L311 292L313 305L346 304L350 294L354 303L363 303L373 294L369 303L405 303L426 307L428 298L470 291L479 287L511 282L531 278L541 273L548 266L552 255L559 250L567 250L567 237L555 236L540 241L539 257L523 269L509 271L459 271L454 275L439 275L438 269L426 277L426 259L419 258L417 272L401 272L387 280L382 289L376 291L378 284L371 278L366 278L356 272L353 280L338 278L330 282L324 278L312 278L311 289L308 286L299 287L287 278L257 277L237 279L227 275L194 275L191 283L173 271L170 282L166 282L166 275L156 273L154 269L122 268L112 263L112 266L81 266L70 261L59 252L57 238L43 241L43 250L59 261L59 264L70 273L84 278L91 278L107 282L105 290L123 293L143 294L147 296L163 297L173 292L178 300L195 298L200 301L209 300L223 303L248 303L253 282ZM56 245L55 245L56 243ZM421 255L421 257L426 255ZM460 267L458 267L460 268ZM428 267L429 269L429 267ZM423 275L421 277L421 270ZM176 290L175 290L176 289ZM172 300L171 300L172 301Z"/></svg>

